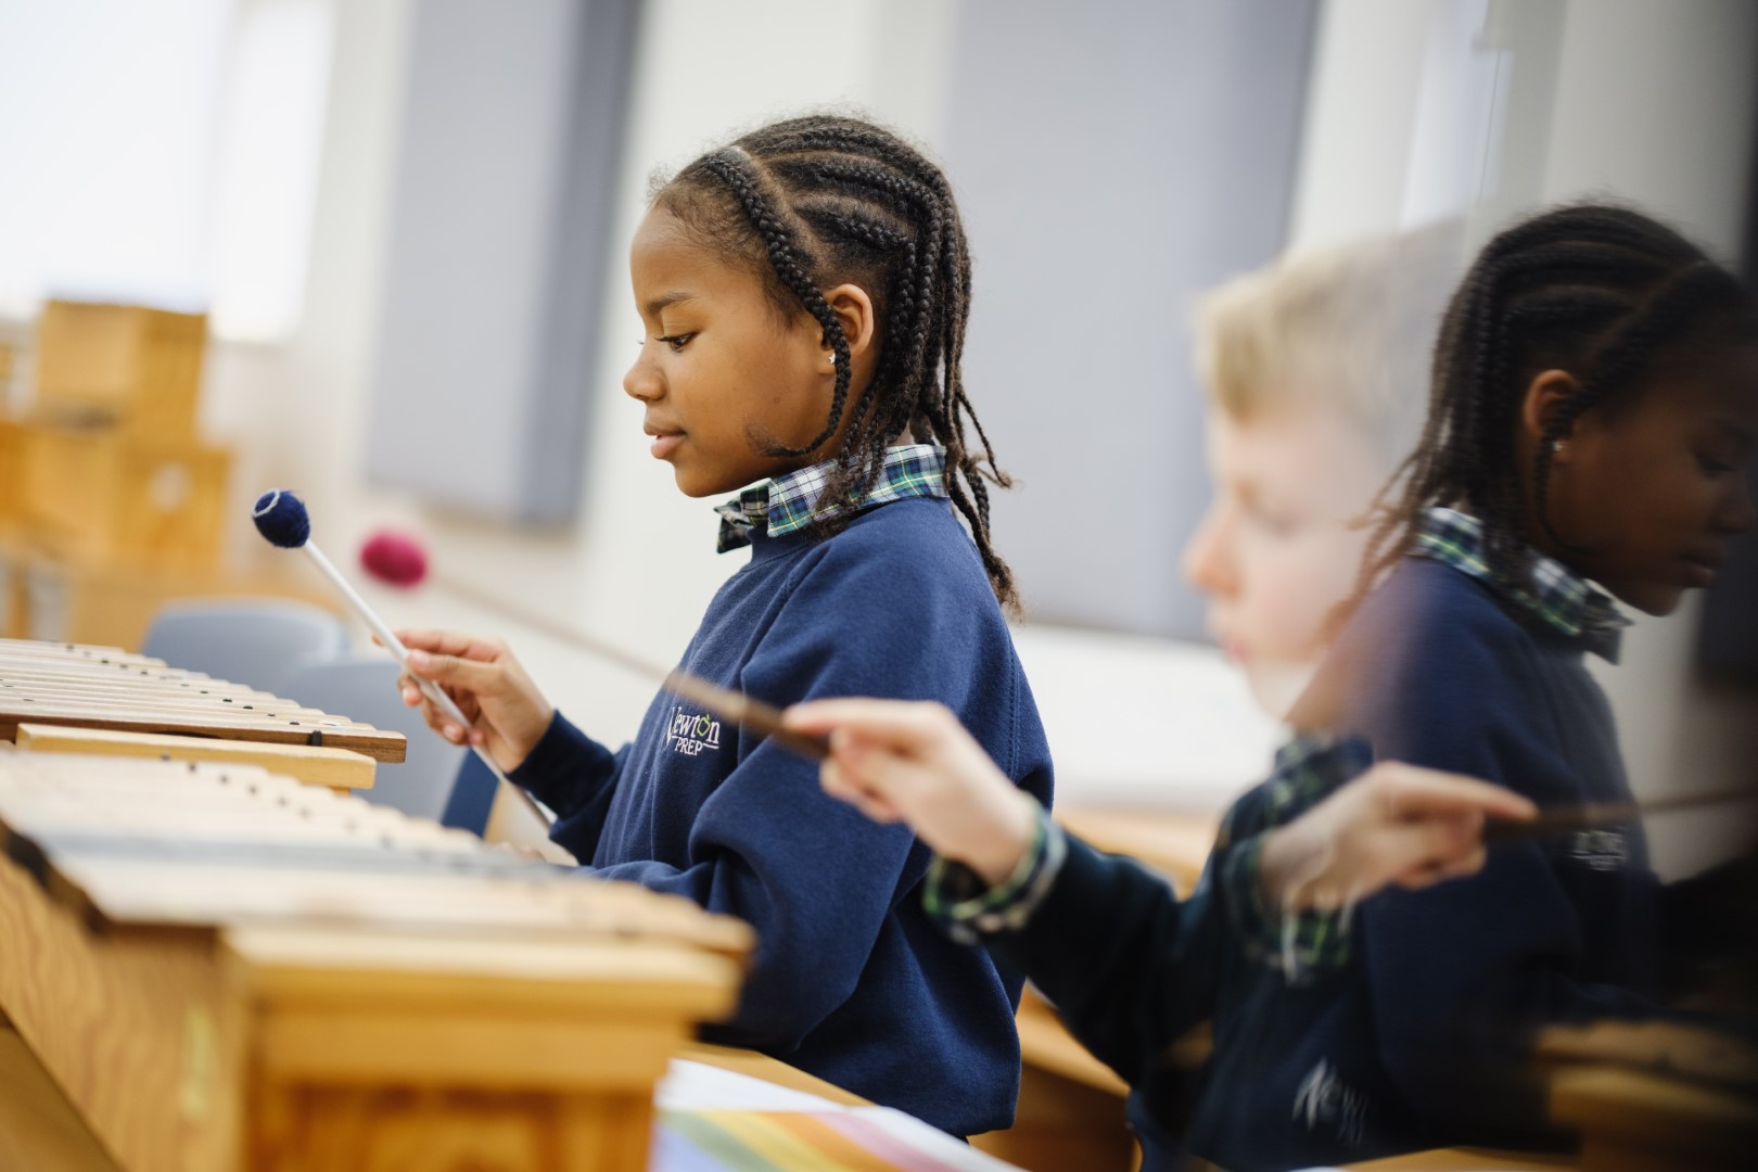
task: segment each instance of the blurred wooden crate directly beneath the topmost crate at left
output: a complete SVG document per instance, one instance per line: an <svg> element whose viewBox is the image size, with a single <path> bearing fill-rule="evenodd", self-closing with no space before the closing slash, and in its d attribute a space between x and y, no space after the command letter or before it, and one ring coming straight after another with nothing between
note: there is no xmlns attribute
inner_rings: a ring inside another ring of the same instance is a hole
<svg viewBox="0 0 1758 1172"><path fill-rule="evenodd" d="M63 557L204 569L220 557L232 457L113 425L21 427L16 531Z"/></svg>

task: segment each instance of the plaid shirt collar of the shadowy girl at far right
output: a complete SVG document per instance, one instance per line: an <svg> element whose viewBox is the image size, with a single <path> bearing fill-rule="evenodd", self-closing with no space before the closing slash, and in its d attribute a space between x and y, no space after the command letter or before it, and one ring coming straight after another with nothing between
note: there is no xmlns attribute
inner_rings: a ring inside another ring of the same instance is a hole
<svg viewBox="0 0 1758 1172"><path fill-rule="evenodd" d="M1617 613L1610 597L1554 557L1533 553L1529 590L1496 582L1484 561L1484 522L1450 508L1427 510L1422 531L1417 532L1415 553L1477 578L1551 629L1580 640L1607 662L1617 662L1617 648L1630 620Z"/></svg>

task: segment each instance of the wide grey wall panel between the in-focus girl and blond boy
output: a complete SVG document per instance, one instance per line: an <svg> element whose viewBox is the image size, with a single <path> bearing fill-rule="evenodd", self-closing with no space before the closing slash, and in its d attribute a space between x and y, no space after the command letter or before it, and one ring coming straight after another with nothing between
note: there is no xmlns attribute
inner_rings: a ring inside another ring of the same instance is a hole
<svg viewBox="0 0 1758 1172"><path fill-rule="evenodd" d="M1021 487L1028 613L1202 634L1190 307L1287 237L1310 0L969 0L946 163L976 253L965 385Z"/></svg>

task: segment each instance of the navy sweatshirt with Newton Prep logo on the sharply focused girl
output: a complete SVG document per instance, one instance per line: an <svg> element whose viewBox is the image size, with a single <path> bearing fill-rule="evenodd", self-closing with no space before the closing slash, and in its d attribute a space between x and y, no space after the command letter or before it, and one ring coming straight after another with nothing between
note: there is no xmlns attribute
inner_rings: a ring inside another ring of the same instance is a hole
<svg viewBox="0 0 1758 1172"><path fill-rule="evenodd" d="M969 534L944 499L868 508L828 539L752 532L680 666L772 705L937 699L1021 789L1050 747ZM737 1016L703 1037L774 1054L955 1135L1007 1126L1021 975L921 908L930 852L823 792L817 763L661 692L610 750L561 715L515 771L605 879L758 931Z"/></svg>

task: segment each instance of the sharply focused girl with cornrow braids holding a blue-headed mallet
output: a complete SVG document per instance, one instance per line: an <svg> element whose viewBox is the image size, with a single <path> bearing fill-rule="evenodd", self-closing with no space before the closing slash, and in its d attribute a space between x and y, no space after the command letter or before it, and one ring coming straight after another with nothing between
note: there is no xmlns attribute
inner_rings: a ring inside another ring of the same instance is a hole
<svg viewBox="0 0 1758 1172"><path fill-rule="evenodd" d="M772 705L937 701L1048 807L1050 750L990 541L1007 485L965 392L970 253L941 170L879 127L795 118L654 184L629 250L645 336L624 390L679 488L749 550L680 668ZM661 692L612 750L505 645L406 633L552 836L601 877L751 922L737 1016L707 1031L955 1135L1018 1095L1021 975L930 924L930 852L826 796L817 766ZM404 699L424 703L404 680Z"/></svg>

